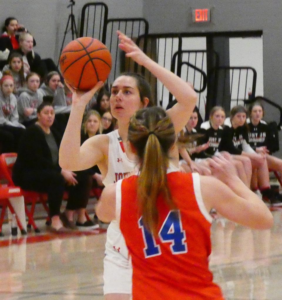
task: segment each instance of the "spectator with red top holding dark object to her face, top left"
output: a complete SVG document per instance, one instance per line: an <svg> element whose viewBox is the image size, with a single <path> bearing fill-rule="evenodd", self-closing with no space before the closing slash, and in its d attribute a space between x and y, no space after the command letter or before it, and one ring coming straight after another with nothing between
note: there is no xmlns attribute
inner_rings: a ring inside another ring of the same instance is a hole
<svg viewBox="0 0 282 300"><path fill-rule="evenodd" d="M27 32L23 25L18 24L18 20L9 17L5 20L3 33L0 37L0 69L7 64L7 58L11 51L19 49L19 33ZM33 40L34 46L36 45Z"/></svg>

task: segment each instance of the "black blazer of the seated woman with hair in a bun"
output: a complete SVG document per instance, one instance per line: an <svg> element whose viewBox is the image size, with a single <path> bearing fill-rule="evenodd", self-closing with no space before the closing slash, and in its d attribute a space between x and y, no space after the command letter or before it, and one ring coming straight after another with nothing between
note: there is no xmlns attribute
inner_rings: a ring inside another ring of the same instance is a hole
<svg viewBox="0 0 282 300"><path fill-rule="evenodd" d="M61 136L52 128L51 131L59 148ZM26 129L20 140L18 156L13 167L13 181L18 184L25 170L46 169L61 171L59 164L52 164L51 151L42 129L38 125L32 125Z"/></svg>

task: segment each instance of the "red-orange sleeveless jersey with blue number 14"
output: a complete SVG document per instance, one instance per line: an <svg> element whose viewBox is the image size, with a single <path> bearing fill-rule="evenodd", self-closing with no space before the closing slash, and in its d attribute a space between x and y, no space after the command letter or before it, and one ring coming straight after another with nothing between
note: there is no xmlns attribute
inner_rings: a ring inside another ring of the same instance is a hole
<svg viewBox="0 0 282 300"><path fill-rule="evenodd" d="M173 172L167 180L178 209L170 210L158 197L157 237L138 215L137 176L117 185L117 218L121 203L120 229L133 265L133 300L222 300L208 269L211 217L202 202L199 175Z"/></svg>

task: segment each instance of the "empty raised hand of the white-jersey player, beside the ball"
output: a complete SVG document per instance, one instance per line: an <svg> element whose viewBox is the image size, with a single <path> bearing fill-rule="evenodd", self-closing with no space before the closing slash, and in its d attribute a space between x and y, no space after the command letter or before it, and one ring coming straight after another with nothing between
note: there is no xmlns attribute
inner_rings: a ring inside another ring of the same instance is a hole
<svg viewBox="0 0 282 300"><path fill-rule="evenodd" d="M132 58L137 64L141 66L144 65L145 61L149 59L149 57L125 34L117 31L117 35L119 38L119 48L126 52L125 56Z"/></svg>

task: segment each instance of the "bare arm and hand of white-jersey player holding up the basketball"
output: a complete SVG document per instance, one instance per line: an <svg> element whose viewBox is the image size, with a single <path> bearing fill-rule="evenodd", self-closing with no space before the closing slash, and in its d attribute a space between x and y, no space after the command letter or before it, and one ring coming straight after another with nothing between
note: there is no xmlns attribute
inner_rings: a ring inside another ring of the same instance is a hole
<svg viewBox="0 0 282 300"><path fill-rule="evenodd" d="M101 139L107 139L105 136L94 136L80 147L80 130L85 106L95 92L103 86L103 82L99 81L86 93L75 90L70 85L67 86L73 93L72 107L59 149L59 164L61 168L67 170L85 170L104 158L101 144L105 141Z"/></svg>

